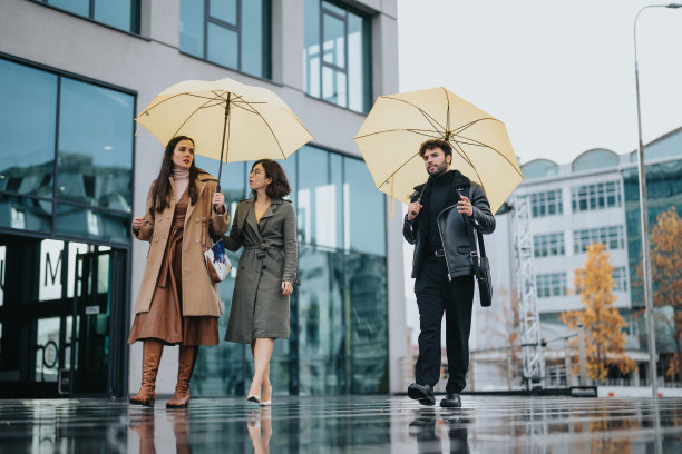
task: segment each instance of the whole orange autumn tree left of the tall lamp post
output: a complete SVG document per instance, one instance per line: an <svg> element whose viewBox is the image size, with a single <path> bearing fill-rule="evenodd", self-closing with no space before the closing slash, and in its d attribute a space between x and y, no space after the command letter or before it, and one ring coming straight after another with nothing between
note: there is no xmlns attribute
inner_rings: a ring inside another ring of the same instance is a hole
<svg viewBox="0 0 682 454"><path fill-rule="evenodd" d="M568 329L577 329L578 323L585 326L585 356L587 375L592 379L606 378L608 367L617 367L625 374L635 363L625 355L626 326L621 313L614 307L613 264L606 246L593 244L587 247L585 267L575 270L575 287L585 308L561 315ZM578 339L569 343L577 348Z"/></svg>

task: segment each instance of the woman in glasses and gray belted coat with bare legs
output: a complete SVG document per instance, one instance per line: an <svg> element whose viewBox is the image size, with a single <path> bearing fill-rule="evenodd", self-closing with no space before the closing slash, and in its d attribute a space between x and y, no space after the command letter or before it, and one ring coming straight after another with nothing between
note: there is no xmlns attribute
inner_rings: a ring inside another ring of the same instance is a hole
<svg viewBox="0 0 682 454"><path fill-rule="evenodd" d="M237 250L237 276L225 340L251 344L249 401L270 405L270 358L275 338L289 338L289 295L296 279L296 215L282 197L291 189L282 167L256 161L249 174L252 196L240 201L225 247ZM262 393L262 394L261 394Z"/></svg>

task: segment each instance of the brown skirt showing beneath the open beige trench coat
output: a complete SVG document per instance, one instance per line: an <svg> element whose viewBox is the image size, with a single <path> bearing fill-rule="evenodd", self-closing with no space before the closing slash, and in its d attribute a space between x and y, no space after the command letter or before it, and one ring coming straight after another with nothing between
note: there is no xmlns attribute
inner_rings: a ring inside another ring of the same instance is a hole
<svg viewBox="0 0 682 454"><path fill-rule="evenodd" d="M217 345L217 318L183 316L183 228L173 227L149 312L135 315L128 344L156 338L168 345Z"/></svg>

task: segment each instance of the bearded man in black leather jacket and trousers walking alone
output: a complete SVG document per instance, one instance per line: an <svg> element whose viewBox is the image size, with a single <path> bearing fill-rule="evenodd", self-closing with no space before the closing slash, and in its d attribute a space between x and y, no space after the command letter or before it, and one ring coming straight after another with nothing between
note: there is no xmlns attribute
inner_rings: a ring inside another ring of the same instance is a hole
<svg viewBox="0 0 682 454"><path fill-rule="evenodd" d="M419 156L429 172L426 185L415 188L402 235L415 245L412 277L419 307L419 356L408 387L410 398L433 405L433 386L440 378L440 324L446 315L448 384L440 406L459 407L469 368L469 332L474 303L476 234L491 234L495 217L483 189L449 170L450 144L427 140Z"/></svg>

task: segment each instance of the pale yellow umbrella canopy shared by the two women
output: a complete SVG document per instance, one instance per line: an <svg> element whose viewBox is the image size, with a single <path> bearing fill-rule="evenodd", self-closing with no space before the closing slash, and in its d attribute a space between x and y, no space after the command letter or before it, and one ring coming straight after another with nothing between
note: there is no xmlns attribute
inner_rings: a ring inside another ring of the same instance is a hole
<svg viewBox="0 0 682 454"><path fill-rule="evenodd" d="M188 136L197 155L221 162L285 159L313 139L277 95L232 79L175 83L135 120L164 146Z"/></svg>

